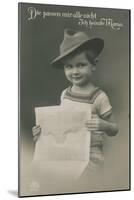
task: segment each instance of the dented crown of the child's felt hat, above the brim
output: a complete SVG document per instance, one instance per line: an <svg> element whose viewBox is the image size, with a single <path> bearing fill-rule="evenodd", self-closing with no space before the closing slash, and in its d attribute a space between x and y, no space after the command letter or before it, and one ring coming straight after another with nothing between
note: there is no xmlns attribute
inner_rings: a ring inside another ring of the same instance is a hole
<svg viewBox="0 0 134 200"><path fill-rule="evenodd" d="M86 33L82 31L74 31L71 29L65 29L64 39L60 45L60 53L67 52L73 47L81 45L83 42L89 40Z"/></svg>

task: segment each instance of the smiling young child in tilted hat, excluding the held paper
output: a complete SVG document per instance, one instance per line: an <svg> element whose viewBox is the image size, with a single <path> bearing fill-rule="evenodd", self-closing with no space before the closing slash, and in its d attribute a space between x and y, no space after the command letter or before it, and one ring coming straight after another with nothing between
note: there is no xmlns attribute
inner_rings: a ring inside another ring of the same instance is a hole
<svg viewBox="0 0 134 200"><path fill-rule="evenodd" d="M103 164L103 134L115 136L118 132L108 96L92 81L103 47L101 38L90 39L85 32L65 30L60 56L52 62L53 67L64 69L71 83L61 94L61 105L73 103L74 106L75 102L76 106L78 102L80 106L91 105L92 118L85 122L85 127L91 131L90 166L93 168ZM35 141L40 133L40 126L33 127Z"/></svg>

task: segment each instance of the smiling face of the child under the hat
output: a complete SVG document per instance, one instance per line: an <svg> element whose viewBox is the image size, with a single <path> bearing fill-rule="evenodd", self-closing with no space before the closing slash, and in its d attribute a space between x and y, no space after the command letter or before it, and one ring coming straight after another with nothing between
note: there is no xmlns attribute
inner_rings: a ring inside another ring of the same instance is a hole
<svg viewBox="0 0 134 200"><path fill-rule="evenodd" d="M66 78L77 86L85 86L91 81L93 64L89 62L84 52L64 60Z"/></svg>

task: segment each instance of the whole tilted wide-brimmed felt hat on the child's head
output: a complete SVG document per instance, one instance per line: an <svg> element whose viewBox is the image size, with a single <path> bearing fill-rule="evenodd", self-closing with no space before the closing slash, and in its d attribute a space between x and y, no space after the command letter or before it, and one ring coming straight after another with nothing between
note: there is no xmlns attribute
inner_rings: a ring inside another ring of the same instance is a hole
<svg viewBox="0 0 134 200"><path fill-rule="evenodd" d="M51 62L51 65L61 68L61 61L80 49L88 49L91 52L92 59L94 59L100 54L103 47L104 40L101 38L90 38L83 31L65 29L64 39L60 45L60 55Z"/></svg>

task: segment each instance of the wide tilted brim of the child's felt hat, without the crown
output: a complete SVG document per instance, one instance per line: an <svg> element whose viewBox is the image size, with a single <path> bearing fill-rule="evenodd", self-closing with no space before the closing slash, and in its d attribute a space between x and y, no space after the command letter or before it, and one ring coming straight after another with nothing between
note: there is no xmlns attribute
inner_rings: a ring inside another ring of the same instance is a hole
<svg viewBox="0 0 134 200"><path fill-rule="evenodd" d="M72 54L73 52L75 52L76 50L79 50L81 48L82 49L88 49L88 50L92 51L93 55L94 55L94 58L95 58L101 53L103 47L104 47L104 40L101 39L101 38L93 38L93 39L86 40L86 41L78 44L77 46L72 47L71 49L69 49L68 51L64 52L63 54L61 54L57 58L55 58L51 62L51 65L53 67L56 67L56 68L62 68L62 66L61 66L62 60L66 56Z"/></svg>

